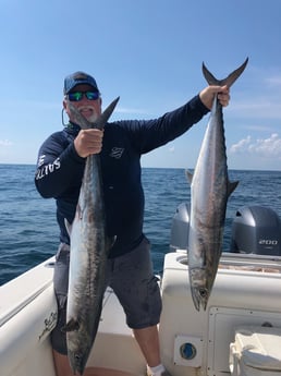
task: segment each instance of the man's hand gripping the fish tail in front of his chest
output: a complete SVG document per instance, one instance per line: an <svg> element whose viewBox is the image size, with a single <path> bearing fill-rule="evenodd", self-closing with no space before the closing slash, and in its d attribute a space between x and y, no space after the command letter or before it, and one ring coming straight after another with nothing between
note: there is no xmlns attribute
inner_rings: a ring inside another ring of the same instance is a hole
<svg viewBox="0 0 281 376"><path fill-rule="evenodd" d="M74 147L78 156L86 158L91 154L99 154L102 147L103 131L90 129L81 130L74 140Z"/></svg>

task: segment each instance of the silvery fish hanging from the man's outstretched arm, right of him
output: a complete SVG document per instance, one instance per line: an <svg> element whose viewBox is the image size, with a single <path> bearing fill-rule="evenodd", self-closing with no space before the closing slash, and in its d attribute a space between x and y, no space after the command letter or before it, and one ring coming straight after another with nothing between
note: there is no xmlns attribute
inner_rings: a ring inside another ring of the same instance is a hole
<svg viewBox="0 0 281 376"><path fill-rule="evenodd" d="M248 58L227 78L217 80L203 63L209 85L230 87L245 70ZM194 173L186 171L191 183L188 227L188 279L194 306L206 311L222 252L228 198L239 182L230 182L227 165L222 106L213 99L210 118L200 146Z"/></svg>

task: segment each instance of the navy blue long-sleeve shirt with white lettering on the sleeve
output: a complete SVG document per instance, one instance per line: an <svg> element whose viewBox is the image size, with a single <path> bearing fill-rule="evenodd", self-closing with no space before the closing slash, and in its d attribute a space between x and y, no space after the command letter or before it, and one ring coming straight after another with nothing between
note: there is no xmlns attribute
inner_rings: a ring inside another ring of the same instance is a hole
<svg viewBox="0 0 281 376"><path fill-rule="evenodd" d="M110 236L115 236L110 257L132 251L143 238L144 191L140 157L179 137L198 122L208 109L199 96L181 108L154 120L124 120L107 123L100 161L106 217ZM80 126L70 123L41 145L35 184L42 197L57 201L60 241L70 243L64 219L72 223L85 167L74 138Z"/></svg>

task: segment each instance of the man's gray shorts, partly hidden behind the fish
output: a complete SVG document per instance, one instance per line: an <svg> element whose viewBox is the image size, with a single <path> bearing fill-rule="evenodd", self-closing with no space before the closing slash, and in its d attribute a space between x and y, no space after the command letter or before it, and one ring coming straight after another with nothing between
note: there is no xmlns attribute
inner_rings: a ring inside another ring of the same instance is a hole
<svg viewBox="0 0 281 376"><path fill-rule="evenodd" d="M51 333L52 348L66 354L66 336L63 330L66 319L70 247L60 244L54 266L53 284L58 301L58 324ZM162 303L158 279L154 275L149 241L144 238L130 253L108 259L107 286L117 294L132 329L157 325Z"/></svg>

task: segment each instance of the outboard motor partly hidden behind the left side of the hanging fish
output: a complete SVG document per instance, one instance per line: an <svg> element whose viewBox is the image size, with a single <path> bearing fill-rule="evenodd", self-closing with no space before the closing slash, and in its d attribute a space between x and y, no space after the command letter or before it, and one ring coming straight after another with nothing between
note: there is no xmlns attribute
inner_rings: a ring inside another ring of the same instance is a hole
<svg viewBox="0 0 281 376"><path fill-rule="evenodd" d="M191 205L182 203L178 206L172 220L170 251L187 250Z"/></svg>

